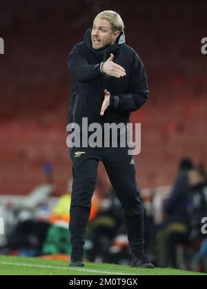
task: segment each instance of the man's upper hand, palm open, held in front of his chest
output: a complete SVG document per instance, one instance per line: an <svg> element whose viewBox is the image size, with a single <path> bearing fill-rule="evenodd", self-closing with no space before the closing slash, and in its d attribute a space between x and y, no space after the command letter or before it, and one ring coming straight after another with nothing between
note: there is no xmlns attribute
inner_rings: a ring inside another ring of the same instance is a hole
<svg viewBox="0 0 207 289"><path fill-rule="evenodd" d="M113 62L114 55L110 55L110 57L103 63L102 71L107 75L114 77L124 77L126 75L125 69L121 67L119 64L115 64Z"/></svg>

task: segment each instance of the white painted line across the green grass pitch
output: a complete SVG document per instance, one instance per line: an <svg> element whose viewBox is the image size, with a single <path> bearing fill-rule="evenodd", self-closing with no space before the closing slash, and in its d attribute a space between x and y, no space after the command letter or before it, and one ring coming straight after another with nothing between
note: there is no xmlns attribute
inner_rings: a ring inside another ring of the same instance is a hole
<svg viewBox="0 0 207 289"><path fill-rule="evenodd" d="M121 272L110 272L110 271L99 271L99 270L90 270L90 269L81 269L81 268L68 268L68 267L55 267L55 266L46 266L46 265L32 265L26 263L12 263L12 262L0 262L0 265L15 265L15 266L24 266L24 267L32 267L32 268L47 268L47 269L63 269L68 271L80 271L80 272L89 272L89 273L106 273L106 274L115 274L115 275L134 275L130 273L121 273Z"/></svg>

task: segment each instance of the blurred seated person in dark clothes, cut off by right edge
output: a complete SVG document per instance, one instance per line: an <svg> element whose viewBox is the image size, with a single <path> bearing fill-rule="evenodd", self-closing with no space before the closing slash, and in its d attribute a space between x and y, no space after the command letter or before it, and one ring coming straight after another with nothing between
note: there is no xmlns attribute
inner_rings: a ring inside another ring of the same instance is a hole
<svg viewBox="0 0 207 289"><path fill-rule="evenodd" d="M188 214L188 236L183 241L186 269L206 272L206 241L201 232L202 218L207 216L207 174L204 164L197 165L188 173L188 183L191 187L186 205ZM175 248L182 239L172 239L171 248Z"/></svg>

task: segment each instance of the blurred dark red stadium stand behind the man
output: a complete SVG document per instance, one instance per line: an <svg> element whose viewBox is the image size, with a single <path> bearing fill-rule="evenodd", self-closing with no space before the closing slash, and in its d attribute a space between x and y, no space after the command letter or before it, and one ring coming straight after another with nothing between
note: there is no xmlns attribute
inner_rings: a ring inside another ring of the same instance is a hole
<svg viewBox="0 0 207 289"><path fill-rule="evenodd" d="M148 73L150 100L132 113L142 129L139 187L172 183L181 157L206 162L206 1L1 1L0 194L28 194L46 180L44 162L52 164L56 194L66 191L66 59L106 9L121 12L127 44ZM101 167L103 190L105 178Z"/></svg>

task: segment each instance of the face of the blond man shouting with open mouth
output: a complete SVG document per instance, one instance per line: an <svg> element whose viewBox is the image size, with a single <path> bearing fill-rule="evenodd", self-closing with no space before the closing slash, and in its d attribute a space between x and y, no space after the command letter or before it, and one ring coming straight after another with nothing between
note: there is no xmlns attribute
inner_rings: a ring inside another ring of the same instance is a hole
<svg viewBox="0 0 207 289"><path fill-rule="evenodd" d="M92 48L101 49L114 44L119 32L112 32L111 24L106 19L94 21L91 32Z"/></svg>

